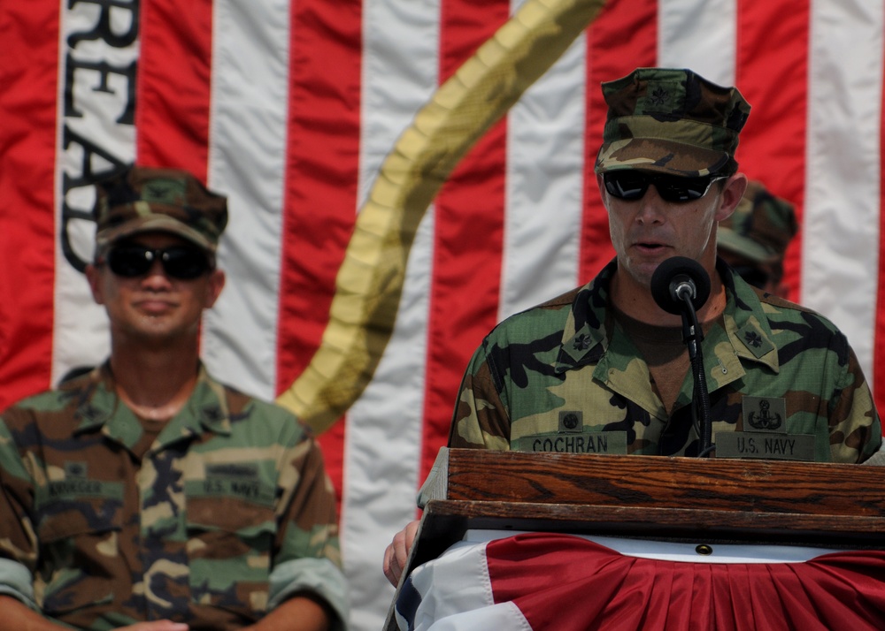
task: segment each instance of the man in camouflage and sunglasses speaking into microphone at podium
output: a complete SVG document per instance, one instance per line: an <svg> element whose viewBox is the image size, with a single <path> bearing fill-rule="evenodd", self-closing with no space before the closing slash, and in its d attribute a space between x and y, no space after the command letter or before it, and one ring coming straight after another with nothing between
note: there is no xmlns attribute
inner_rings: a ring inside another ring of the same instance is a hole
<svg viewBox="0 0 885 631"><path fill-rule="evenodd" d="M747 188L735 149L750 105L687 70L603 85L596 181L616 258L588 285L513 315L466 369L450 447L699 455L681 316L651 278L673 256L711 279L697 310L717 458L861 462L881 445L858 360L833 323L754 290L716 255L718 222ZM384 572L398 581L416 524Z"/></svg>

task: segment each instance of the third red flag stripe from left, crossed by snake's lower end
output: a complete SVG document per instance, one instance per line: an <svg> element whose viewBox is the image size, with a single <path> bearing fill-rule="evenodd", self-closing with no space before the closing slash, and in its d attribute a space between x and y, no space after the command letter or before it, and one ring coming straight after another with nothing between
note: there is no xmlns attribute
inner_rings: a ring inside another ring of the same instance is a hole
<svg viewBox="0 0 885 631"><path fill-rule="evenodd" d="M292 6L278 393L319 346L358 207L362 3ZM339 498L345 427L319 437Z"/></svg>

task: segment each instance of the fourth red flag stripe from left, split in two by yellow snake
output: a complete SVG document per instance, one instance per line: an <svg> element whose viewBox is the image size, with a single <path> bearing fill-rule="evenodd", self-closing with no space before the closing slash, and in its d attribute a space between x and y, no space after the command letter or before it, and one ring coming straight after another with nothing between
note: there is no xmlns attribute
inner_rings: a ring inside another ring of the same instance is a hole
<svg viewBox="0 0 885 631"><path fill-rule="evenodd" d="M509 17L510 4L501 0L444 3L440 83ZM497 319L504 239L505 125L502 120L489 130L435 200L421 479L435 460L440 438L448 435L455 392L470 354Z"/></svg>

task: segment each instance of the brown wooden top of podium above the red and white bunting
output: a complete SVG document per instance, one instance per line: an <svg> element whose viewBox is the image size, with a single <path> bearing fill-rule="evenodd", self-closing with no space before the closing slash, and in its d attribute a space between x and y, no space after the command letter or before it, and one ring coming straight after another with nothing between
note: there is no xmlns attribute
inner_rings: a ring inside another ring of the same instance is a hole
<svg viewBox="0 0 885 631"><path fill-rule="evenodd" d="M443 448L403 576L467 529L881 550L883 490L885 467Z"/></svg>

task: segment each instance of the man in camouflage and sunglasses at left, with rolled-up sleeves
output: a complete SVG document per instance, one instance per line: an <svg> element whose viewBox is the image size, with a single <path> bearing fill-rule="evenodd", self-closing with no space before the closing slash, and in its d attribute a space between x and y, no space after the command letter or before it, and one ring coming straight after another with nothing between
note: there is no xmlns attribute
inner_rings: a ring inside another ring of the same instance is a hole
<svg viewBox="0 0 885 631"><path fill-rule="evenodd" d="M198 356L226 199L170 169L96 188L111 356L0 419L0 629L343 629L318 445Z"/></svg>

